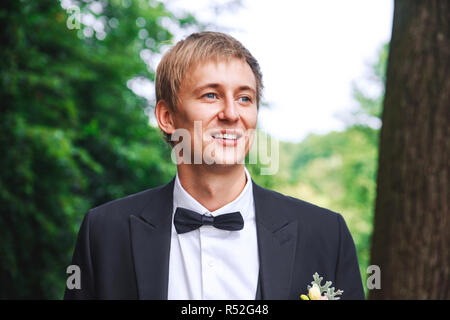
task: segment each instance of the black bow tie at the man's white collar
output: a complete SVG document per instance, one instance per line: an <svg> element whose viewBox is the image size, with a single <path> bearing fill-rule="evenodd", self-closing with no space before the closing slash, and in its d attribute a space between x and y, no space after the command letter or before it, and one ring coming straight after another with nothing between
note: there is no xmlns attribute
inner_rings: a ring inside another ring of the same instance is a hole
<svg viewBox="0 0 450 320"><path fill-rule="evenodd" d="M211 217L186 208L177 207L173 223L177 233L186 233L203 225L210 225L228 231L237 231L244 228L244 219L239 211Z"/></svg>

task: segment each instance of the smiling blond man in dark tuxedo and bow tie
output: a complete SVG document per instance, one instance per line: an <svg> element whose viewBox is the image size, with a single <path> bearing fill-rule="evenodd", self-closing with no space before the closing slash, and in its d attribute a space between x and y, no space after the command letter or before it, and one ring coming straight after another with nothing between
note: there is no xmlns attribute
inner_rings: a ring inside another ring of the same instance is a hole
<svg viewBox="0 0 450 320"><path fill-rule="evenodd" d="M340 214L255 184L243 159L262 75L234 38L196 33L156 73L155 115L179 148L167 185L90 210L66 299L299 299L318 273L363 299L355 246Z"/></svg>

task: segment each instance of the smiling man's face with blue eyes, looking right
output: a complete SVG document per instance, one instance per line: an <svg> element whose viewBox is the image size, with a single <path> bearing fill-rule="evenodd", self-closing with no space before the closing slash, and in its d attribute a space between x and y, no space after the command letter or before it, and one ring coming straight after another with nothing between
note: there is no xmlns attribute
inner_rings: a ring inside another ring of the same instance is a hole
<svg viewBox="0 0 450 320"><path fill-rule="evenodd" d="M243 163L257 116L255 76L245 61L233 58L200 63L188 72L173 123L189 131L192 153L202 163L231 165Z"/></svg>

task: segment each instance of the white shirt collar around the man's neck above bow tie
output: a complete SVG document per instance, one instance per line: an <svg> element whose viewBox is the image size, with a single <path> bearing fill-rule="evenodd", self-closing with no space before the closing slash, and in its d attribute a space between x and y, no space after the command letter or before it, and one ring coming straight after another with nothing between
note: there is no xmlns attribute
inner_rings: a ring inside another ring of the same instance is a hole
<svg viewBox="0 0 450 320"><path fill-rule="evenodd" d="M173 189L173 203L174 210L177 207L183 207L189 210L196 211L200 214L210 213L212 216L218 216L225 213L240 211L244 220L253 217L253 184L250 173L247 168L244 167L247 182L244 189L237 196L236 199L227 203L223 207L210 212L200 202L194 199L181 185L178 177L178 172L175 177L175 184Z"/></svg>

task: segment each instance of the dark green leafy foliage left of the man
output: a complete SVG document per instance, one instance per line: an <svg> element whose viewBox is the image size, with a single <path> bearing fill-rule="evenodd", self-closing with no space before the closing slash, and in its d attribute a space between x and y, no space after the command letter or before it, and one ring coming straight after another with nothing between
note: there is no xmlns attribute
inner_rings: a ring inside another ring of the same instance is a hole
<svg viewBox="0 0 450 320"><path fill-rule="evenodd" d="M196 21L157 2L103 4L94 14L106 22L103 40L84 36L83 24L69 30L58 1L9 1L0 11L0 298L61 297L84 213L175 172L169 148L148 126L146 101L126 84L154 78L139 51L158 52L172 39L161 17L180 27Z"/></svg>

